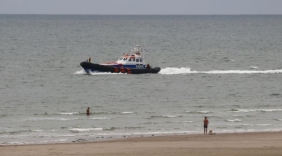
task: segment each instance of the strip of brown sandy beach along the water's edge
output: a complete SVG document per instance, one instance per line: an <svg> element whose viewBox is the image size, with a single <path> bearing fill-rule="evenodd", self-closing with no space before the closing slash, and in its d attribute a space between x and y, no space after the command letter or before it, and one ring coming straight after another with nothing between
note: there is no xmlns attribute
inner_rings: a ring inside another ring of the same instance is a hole
<svg viewBox="0 0 282 156"><path fill-rule="evenodd" d="M0 146L1 156L280 156L282 132L173 135L87 143Z"/></svg>

